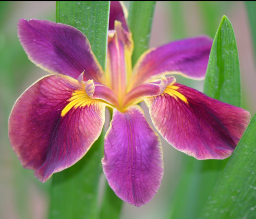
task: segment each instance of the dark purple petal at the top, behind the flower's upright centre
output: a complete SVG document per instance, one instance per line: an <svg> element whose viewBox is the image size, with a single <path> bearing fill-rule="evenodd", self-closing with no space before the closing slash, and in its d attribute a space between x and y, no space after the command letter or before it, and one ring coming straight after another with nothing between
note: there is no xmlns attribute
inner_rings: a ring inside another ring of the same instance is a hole
<svg viewBox="0 0 256 219"><path fill-rule="evenodd" d="M129 27L127 25L128 12L122 1L110 1L110 21L109 30L115 28L115 21L120 21L122 27L129 32Z"/></svg>

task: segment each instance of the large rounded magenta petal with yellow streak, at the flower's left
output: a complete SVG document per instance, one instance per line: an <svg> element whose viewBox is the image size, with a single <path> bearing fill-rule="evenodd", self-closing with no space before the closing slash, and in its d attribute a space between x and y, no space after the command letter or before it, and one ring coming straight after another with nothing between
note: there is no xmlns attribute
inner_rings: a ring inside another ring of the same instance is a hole
<svg viewBox="0 0 256 219"><path fill-rule="evenodd" d="M69 76L46 76L15 102L9 117L12 149L24 168L42 182L89 150L101 133L105 105Z"/></svg>

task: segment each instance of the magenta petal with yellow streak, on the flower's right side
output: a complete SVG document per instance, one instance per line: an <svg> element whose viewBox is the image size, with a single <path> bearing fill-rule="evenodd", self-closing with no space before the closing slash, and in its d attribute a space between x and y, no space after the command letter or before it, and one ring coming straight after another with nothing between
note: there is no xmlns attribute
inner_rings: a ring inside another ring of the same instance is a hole
<svg viewBox="0 0 256 219"><path fill-rule="evenodd" d="M250 121L248 111L179 84L146 104L158 132L197 159L229 157Z"/></svg>

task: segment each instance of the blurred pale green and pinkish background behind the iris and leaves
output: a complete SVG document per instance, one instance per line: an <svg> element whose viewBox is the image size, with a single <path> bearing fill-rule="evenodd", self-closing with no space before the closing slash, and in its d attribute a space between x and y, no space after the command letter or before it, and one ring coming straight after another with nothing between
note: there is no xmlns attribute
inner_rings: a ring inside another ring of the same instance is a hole
<svg viewBox="0 0 256 219"><path fill-rule="evenodd" d="M40 183L31 170L22 168L8 140L7 122L15 100L29 85L47 74L27 59L17 37L16 24L21 18L55 21L55 9L54 1L0 2L1 219L46 219L48 215L50 181ZM224 14L231 21L236 36L243 108L254 115L256 112L256 56L251 26L243 1L158 1L150 48L184 37L198 35L214 37ZM195 82L182 77L177 77L177 81L200 91L203 89L203 81ZM145 113L148 115L147 110ZM163 139L161 142L164 151L165 173L158 193L151 202L139 208L124 203L121 219L166 218L170 208L169 201L179 183L182 155L181 152L166 144Z"/></svg>

